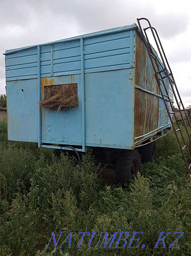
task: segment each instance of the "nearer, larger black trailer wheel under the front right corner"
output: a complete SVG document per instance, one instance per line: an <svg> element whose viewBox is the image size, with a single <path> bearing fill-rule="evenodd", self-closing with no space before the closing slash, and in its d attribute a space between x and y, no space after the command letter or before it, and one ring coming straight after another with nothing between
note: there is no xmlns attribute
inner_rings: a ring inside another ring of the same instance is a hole
<svg viewBox="0 0 191 256"><path fill-rule="evenodd" d="M129 179L135 178L140 170L141 160L139 152L136 149L121 151L115 165L116 184L127 183Z"/></svg>

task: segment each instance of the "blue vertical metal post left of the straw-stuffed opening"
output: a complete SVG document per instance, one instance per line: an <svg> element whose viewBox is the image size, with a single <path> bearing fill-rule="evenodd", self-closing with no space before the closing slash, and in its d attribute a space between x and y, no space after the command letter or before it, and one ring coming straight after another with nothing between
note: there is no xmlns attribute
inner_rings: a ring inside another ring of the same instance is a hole
<svg viewBox="0 0 191 256"><path fill-rule="evenodd" d="M40 76L40 45L37 46L38 51L38 147L41 146L41 76Z"/></svg>

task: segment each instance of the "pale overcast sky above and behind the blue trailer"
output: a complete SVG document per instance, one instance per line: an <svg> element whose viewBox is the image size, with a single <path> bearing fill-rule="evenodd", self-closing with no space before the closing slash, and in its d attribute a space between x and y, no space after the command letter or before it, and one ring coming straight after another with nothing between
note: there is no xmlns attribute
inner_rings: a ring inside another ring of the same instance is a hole
<svg viewBox="0 0 191 256"><path fill-rule="evenodd" d="M0 52L137 23L156 27L185 107L191 105L190 0L0 0ZM5 56L0 56L0 94Z"/></svg>

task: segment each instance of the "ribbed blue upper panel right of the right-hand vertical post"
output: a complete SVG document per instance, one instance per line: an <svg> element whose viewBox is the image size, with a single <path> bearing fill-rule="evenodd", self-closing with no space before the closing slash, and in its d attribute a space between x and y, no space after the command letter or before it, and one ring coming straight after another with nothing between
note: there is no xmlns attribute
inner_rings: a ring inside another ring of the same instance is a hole
<svg viewBox="0 0 191 256"><path fill-rule="evenodd" d="M84 40L84 71L130 68L131 31Z"/></svg>

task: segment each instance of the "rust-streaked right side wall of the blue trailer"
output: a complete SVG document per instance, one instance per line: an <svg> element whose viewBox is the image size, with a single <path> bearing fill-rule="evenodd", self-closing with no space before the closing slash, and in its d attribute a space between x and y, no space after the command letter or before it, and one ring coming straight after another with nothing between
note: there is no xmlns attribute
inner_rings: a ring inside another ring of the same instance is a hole
<svg viewBox="0 0 191 256"><path fill-rule="evenodd" d="M135 39L135 105L134 143L170 127L165 105L144 42L136 33ZM167 86L168 87L168 86Z"/></svg>

